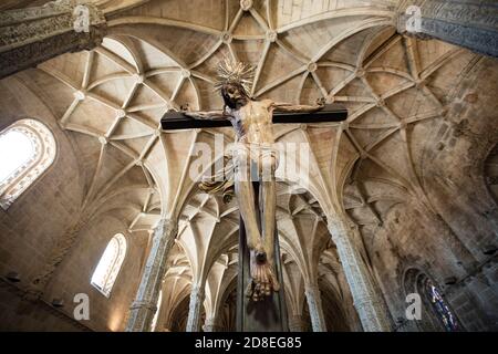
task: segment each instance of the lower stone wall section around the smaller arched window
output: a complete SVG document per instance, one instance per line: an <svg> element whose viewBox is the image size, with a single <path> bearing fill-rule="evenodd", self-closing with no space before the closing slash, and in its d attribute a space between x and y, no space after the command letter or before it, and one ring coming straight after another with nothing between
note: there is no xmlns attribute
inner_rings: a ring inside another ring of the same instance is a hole
<svg viewBox="0 0 498 354"><path fill-rule="evenodd" d="M97 331L124 331L128 308L139 283L144 250L148 233L127 233L126 225L115 216L101 215L79 235L79 241L68 253L48 285L45 298L61 298L70 313L76 305L74 295L85 293L90 300L90 321L86 325ZM126 254L110 298L90 281L107 242L116 233L126 238Z"/></svg>

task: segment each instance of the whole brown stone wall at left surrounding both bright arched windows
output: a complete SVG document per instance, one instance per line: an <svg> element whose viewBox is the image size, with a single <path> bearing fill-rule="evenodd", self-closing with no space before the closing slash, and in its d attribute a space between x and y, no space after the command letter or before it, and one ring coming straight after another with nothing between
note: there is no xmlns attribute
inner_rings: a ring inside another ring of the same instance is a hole
<svg viewBox="0 0 498 354"><path fill-rule="evenodd" d="M29 75L24 72L0 83L0 129L19 118L40 119L52 131L58 155L53 165L7 211L0 210L0 275L17 272L20 277L15 284L2 280L1 312L10 320L2 320L1 326L3 330L122 331L148 242L148 232L127 232L129 216L123 209L95 212L96 217L82 227L74 244L50 274L41 289L41 299L23 300L24 291L49 262L56 242L81 218L89 175L92 175L83 170L90 167L89 143L59 127L51 111L54 107L43 102L44 87L40 81L29 80ZM31 71L31 77L37 75L40 72ZM125 235L127 250L107 299L90 281L107 242L117 232ZM90 299L90 321L81 324L72 320L76 305L73 299L77 293L85 293ZM54 309L53 299L62 299L64 306Z"/></svg>

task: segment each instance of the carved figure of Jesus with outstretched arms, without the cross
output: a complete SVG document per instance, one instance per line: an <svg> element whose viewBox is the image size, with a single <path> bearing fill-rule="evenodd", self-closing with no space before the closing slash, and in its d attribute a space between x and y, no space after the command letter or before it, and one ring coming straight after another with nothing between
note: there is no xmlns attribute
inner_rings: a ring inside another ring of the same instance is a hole
<svg viewBox="0 0 498 354"><path fill-rule="evenodd" d="M250 250L251 282L246 294L253 301L262 300L280 289L274 271L276 180L278 152L273 147L272 114L280 112L315 112L324 106L276 103L249 96L253 69L243 63L225 61L218 67L222 111L185 112L197 119L228 119L236 133L232 152L235 195L247 232ZM255 191L250 176L251 164L257 166L260 180L261 232L255 209Z"/></svg>

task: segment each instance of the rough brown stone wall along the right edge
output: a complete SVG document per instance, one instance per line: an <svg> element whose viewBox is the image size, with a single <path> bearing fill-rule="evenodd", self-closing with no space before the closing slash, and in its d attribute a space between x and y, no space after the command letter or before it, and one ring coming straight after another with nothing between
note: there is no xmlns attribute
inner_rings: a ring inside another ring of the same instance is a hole
<svg viewBox="0 0 498 354"><path fill-rule="evenodd" d="M464 330L496 331L497 254L485 251L498 244L498 217L483 175L498 136L498 107L489 100L498 90L496 61L479 59L463 75L448 118L423 150L423 185L433 210L417 200L393 207L372 243L372 263L395 320L405 316L406 271L418 269L437 283ZM424 323L400 330L430 330Z"/></svg>

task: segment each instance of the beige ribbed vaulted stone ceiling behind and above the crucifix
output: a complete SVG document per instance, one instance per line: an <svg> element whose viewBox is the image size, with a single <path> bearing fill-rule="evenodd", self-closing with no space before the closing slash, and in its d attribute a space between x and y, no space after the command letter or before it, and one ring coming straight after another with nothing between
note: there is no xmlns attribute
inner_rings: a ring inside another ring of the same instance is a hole
<svg viewBox="0 0 498 354"><path fill-rule="evenodd" d="M404 38L393 15L392 1L155 0L111 15L100 48L39 66L33 80L82 153L89 212L127 200L131 232L152 230L162 215L179 218L166 274L176 292L165 301L180 303L188 284L207 279L206 309L214 311L235 277L237 202L198 190L200 174L189 174L195 144L214 146L216 133L228 144L231 131L159 128L169 110L221 107L212 83L224 58L257 67L256 98L325 97L349 110L342 124L274 127L279 142L311 147L310 174L281 181L278 191L295 312L317 274L333 296L350 296L324 215L344 208L371 236L394 205L425 202L424 149L476 55ZM295 192L298 185L307 191Z"/></svg>

